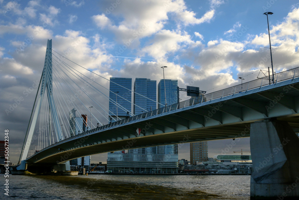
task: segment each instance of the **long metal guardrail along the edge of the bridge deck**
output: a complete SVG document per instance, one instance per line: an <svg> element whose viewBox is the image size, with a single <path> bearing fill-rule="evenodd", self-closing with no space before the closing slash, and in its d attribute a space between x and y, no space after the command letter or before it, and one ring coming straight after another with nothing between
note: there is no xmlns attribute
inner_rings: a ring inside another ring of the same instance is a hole
<svg viewBox="0 0 299 200"><path fill-rule="evenodd" d="M283 72L280 72L280 73L276 73L276 74L274 74L274 84L276 84L277 82L280 82L280 81L285 81L285 80L288 80L288 79L294 79L295 77L298 77L298 76L299 76L299 67L296 67L296 68L293 68L293 69L290 69L290 70L286 70L286 71L283 71ZM222 98L222 97L229 96L229 95L232 95L232 94L236 94L236 93L239 93L239 92L248 91L248 90L251 90L251 89L254 89L254 88L260 88L262 86L269 85L269 79L270 79L270 81L272 80L272 75L266 76L266 77L261 78L261 79L255 79L253 81L245 82L245 83L240 84L240 85L235 85L235 86L232 86L232 87L229 87L229 88L225 88L223 90L215 91L215 92L212 92L212 93L209 93L209 94L205 94L205 95L202 95L200 97L188 99L186 101L182 101L182 102L170 105L170 106L162 107L162 108L150 111L150 112L142 113L140 115L135 115L135 116L132 116L132 117L129 117L129 118L126 118L126 119L115 121L111 124L106 124L106 125L103 125L101 127L97 127L95 129L88 130L86 132L83 132L83 133L80 133L78 135L71 136L71 137L69 137L67 139L64 139L62 141L56 142L56 143L42 149L41 151L44 151L48 148L51 148L54 145L62 143L62 142L66 142L68 140L71 140L71 139L74 139L74 138L77 138L77 137L80 137L80 136L83 136L83 135L87 135L89 133L93 133L93 132L96 132L96 131L99 131L99 130L104 130L106 128L114 127L114 126L117 126L117 125L120 125L120 124L125 124L125 123L131 122L131 121L147 118L149 116L158 115L158 114L161 114L161 113L164 113L164 112L169 112L171 110L176 110L176 109L184 108L184 107L187 107L187 106L192 106L194 104L210 101L210 100L213 100L213 99ZM273 84L273 83L271 83L271 84Z"/></svg>

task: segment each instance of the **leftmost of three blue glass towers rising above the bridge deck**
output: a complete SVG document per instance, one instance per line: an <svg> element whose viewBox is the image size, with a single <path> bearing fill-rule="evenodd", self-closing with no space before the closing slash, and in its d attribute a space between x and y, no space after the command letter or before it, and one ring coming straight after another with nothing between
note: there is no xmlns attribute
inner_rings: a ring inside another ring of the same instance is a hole
<svg viewBox="0 0 299 200"><path fill-rule="evenodd" d="M131 112L132 103L132 79L110 77L109 91L109 115L116 120L116 115L120 119L125 119ZM116 106L117 104L117 106Z"/></svg>

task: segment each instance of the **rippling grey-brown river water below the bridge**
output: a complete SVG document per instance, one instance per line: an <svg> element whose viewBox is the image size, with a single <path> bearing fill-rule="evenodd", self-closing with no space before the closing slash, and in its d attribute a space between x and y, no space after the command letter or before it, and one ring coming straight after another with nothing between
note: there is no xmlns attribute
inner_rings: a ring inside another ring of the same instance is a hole
<svg viewBox="0 0 299 200"><path fill-rule="evenodd" d="M5 199L250 199L250 176L9 175Z"/></svg>

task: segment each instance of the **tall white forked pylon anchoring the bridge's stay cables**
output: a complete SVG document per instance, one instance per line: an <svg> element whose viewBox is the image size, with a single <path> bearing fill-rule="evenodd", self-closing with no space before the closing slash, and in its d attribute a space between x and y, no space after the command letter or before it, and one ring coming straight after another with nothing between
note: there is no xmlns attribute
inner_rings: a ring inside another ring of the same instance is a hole
<svg viewBox="0 0 299 200"><path fill-rule="evenodd" d="M51 120L54 126L56 139L57 141L60 141L63 139L62 130L61 130L61 126L60 126L60 122L59 122L59 118L57 115L56 106L53 98L53 86L52 86L52 40L48 40L47 42L44 69L42 71L42 76L39 81L39 86L36 92L36 97L31 111L29 124L27 127L24 143L19 158L19 164L21 165L17 167L18 170L25 170L27 168L25 160L28 155L28 151L33 137L33 132L36 126L36 122L39 116L39 112L44 97L46 97L48 100L49 115L51 116ZM49 127L51 129L51 121L49 121L49 123L50 123ZM49 130L49 133L51 133L51 130ZM50 139L50 145L51 145L51 139Z"/></svg>

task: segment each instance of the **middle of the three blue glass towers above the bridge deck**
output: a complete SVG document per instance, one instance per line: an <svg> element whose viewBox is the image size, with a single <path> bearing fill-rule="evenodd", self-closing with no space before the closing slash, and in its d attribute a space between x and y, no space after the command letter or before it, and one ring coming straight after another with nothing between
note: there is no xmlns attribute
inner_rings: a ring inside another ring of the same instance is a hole
<svg viewBox="0 0 299 200"><path fill-rule="evenodd" d="M134 115L155 110L157 107L157 81L147 78L136 78L134 82ZM136 94L137 93L137 94ZM141 95L139 95L141 94ZM149 99L147 99L147 98ZM138 107L139 106L139 107ZM141 109L141 108L142 109ZM146 110L146 111L145 111Z"/></svg>

